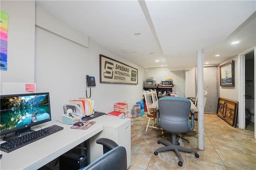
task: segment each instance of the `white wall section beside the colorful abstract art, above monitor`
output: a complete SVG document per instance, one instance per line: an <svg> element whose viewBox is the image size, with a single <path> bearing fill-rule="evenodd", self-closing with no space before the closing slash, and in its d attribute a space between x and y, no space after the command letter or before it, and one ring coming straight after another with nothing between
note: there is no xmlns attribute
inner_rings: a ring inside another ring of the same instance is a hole
<svg viewBox="0 0 256 170"><path fill-rule="evenodd" d="M7 70L0 71L2 83L34 83L35 2L0 1L8 13Z"/></svg>

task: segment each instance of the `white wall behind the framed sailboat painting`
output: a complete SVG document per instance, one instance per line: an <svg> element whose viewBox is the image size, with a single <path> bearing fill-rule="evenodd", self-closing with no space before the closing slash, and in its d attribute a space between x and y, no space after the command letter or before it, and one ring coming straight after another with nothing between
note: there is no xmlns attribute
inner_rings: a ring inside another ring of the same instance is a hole
<svg viewBox="0 0 256 170"><path fill-rule="evenodd" d="M220 97L226 98L226 99L230 99L230 100L234 100L234 101L238 101L238 55L224 61L223 63L220 63L220 65L234 60L234 82L235 82L235 86L234 87L222 87L220 86ZM218 69L218 75L220 75L219 73L219 69Z"/></svg>

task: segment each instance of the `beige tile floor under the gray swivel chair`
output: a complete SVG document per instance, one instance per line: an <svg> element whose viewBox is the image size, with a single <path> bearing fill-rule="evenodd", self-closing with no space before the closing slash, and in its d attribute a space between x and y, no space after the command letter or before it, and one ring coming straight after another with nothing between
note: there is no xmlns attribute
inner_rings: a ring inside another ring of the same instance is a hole
<svg viewBox="0 0 256 170"><path fill-rule="evenodd" d="M204 150L197 148L196 127L192 135L184 135L190 143L186 146L198 151L199 158L194 153L182 152L183 166L178 166L175 152L158 152L154 150L164 146L157 144L156 135L161 132L148 128L148 117L143 115L134 119L131 127L131 166L129 170L255 170L256 169L256 139L254 139L254 123L245 130L234 128L215 114L204 114ZM160 137L170 140L170 136Z"/></svg>

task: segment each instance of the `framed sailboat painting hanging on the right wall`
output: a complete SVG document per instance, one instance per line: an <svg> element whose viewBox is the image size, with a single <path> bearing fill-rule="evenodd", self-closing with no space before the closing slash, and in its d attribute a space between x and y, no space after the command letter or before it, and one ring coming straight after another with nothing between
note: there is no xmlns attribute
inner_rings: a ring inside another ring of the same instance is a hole
<svg viewBox="0 0 256 170"><path fill-rule="evenodd" d="M220 86L234 87L234 60L220 65Z"/></svg>

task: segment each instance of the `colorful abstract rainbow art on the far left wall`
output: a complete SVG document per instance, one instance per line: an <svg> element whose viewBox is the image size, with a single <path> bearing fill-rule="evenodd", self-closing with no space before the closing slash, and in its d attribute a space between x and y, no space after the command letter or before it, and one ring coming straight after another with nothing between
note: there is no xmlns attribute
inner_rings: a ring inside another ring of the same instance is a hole
<svg viewBox="0 0 256 170"><path fill-rule="evenodd" d="M0 69L7 70L8 14L0 11Z"/></svg>

